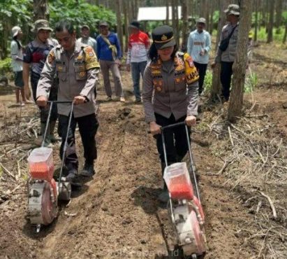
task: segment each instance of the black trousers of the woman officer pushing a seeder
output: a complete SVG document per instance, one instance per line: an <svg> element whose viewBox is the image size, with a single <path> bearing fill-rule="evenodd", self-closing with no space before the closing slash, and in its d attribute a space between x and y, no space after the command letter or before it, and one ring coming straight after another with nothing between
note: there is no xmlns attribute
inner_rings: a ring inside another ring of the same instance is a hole
<svg viewBox="0 0 287 259"><path fill-rule="evenodd" d="M178 120L175 120L175 116L173 114L170 116L170 118L165 118L158 113L154 113L156 116L156 124L161 126L167 126L174 123L179 123L185 120L186 116L179 118ZM185 127L179 126L174 127L172 129L165 130L165 148L166 148L166 154L168 158L168 163L173 162L180 162L182 161L182 158L184 158L184 155L186 155L186 152L189 150L189 146L186 141L186 131ZM190 135L190 130L189 130ZM163 154L163 141L161 139L161 135L158 134L155 136L156 138L156 147L159 151L159 158L161 159L161 162L164 163L164 154Z"/></svg>

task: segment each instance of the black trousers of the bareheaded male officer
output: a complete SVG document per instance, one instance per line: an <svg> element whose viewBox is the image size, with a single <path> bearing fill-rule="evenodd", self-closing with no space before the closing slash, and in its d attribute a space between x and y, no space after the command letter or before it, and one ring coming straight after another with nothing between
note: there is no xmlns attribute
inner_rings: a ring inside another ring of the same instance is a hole
<svg viewBox="0 0 287 259"><path fill-rule="evenodd" d="M62 159L63 148L68 130L68 143L66 149L65 164L68 169L78 169L78 156L75 152L75 128L79 126L79 131L84 146L84 158L86 162L92 164L97 157L96 132L98 130L98 120L96 114L90 114L79 118L72 117L71 126L68 130L68 116L59 115L59 131L61 133L60 158Z"/></svg>

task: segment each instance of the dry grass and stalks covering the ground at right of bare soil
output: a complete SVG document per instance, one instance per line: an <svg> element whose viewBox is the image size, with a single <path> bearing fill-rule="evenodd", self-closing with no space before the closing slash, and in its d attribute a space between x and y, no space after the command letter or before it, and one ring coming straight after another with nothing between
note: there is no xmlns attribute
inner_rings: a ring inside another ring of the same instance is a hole
<svg viewBox="0 0 287 259"><path fill-rule="evenodd" d="M267 114L253 111L254 106L236 125L226 123L227 107L206 111L202 123L207 127L197 129L212 138L210 149L222 160L221 169L212 175L225 176L226 188L254 215L253 221L237 226L244 245L258 252L254 258L286 258L286 139L277 134Z"/></svg>

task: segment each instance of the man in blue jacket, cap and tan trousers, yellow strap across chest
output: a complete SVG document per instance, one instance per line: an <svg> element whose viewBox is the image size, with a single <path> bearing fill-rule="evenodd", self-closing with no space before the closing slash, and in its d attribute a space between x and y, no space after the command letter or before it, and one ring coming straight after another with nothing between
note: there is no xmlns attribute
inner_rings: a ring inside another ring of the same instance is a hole
<svg viewBox="0 0 287 259"><path fill-rule="evenodd" d="M103 73L103 83L105 85L107 101L112 100L112 88L110 87L110 71L112 71L112 77L115 82L116 100L125 102L122 78L119 73L120 59L122 59L119 39L116 34L109 31L107 22L101 22L99 26L101 34L96 38L96 55Z"/></svg>

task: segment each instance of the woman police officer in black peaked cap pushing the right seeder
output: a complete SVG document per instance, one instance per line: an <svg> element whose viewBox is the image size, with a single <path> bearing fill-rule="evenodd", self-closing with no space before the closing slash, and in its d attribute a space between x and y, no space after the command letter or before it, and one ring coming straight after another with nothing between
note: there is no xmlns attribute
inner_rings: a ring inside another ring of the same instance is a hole
<svg viewBox="0 0 287 259"><path fill-rule="evenodd" d="M196 125L198 115L198 72L189 54L178 52L172 28L163 25L152 31L153 43L143 76L142 100L150 132L164 169L161 127L185 121ZM165 132L168 162L180 162L188 151L184 127ZM166 186L159 200L168 200Z"/></svg>

